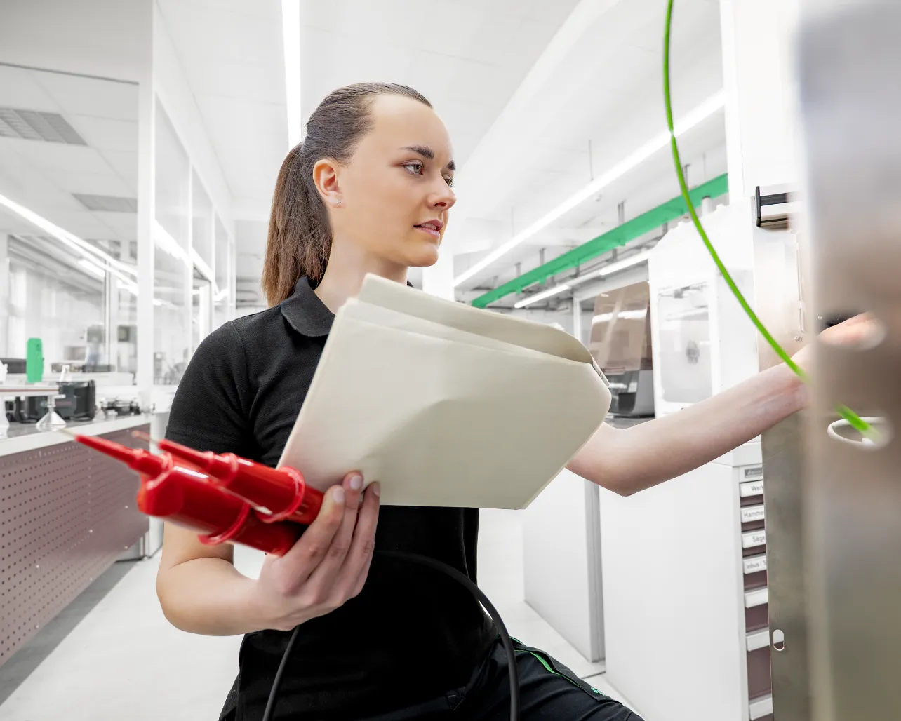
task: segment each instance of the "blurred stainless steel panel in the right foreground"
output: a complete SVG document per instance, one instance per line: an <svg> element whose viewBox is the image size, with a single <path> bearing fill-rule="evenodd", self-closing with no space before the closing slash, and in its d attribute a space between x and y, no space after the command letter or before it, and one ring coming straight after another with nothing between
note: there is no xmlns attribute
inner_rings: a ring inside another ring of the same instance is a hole
<svg viewBox="0 0 901 721"><path fill-rule="evenodd" d="M844 4L801 37L815 309L872 311L887 329L878 347L816 357L804 498L812 717L896 719L901 439L862 451L825 428L839 403L901 428L901 6Z"/></svg>

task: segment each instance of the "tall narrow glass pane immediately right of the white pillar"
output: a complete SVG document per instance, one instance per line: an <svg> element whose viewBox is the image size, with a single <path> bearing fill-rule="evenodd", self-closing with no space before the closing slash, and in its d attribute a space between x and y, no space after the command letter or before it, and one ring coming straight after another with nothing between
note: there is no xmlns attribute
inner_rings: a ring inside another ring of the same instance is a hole
<svg viewBox="0 0 901 721"><path fill-rule="evenodd" d="M191 165L159 102L154 160L153 382L173 385L191 357Z"/></svg>

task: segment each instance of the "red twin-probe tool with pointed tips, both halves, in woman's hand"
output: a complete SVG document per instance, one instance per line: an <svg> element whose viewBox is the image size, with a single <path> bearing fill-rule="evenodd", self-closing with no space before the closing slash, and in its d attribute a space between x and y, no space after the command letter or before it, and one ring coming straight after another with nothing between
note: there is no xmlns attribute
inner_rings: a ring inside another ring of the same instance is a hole
<svg viewBox="0 0 901 721"><path fill-rule="evenodd" d="M159 441L159 455L96 436L71 434L141 473L138 509L201 534L208 545L249 545L283 555L323 505L323 493L293 468Z"/></svg>

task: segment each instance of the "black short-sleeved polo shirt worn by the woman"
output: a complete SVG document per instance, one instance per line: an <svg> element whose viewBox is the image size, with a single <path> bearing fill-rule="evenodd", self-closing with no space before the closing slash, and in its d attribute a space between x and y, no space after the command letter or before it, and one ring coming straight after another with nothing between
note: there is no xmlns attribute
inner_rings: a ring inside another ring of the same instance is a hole
<svg viewBox="0 0 901 721"><path fill-rule="evenodd" d="M166 437L277 464L333 319L302 278L279 306L216 329L178 385ZM385 506L376 548L432 556L475 581L477 536L478 509ZM237 721L262 716L288 636L244 636ZM359 718L433 698L466 683L493 638L469 591L377 554L356 599L300 627L277 717Z"/></svg>

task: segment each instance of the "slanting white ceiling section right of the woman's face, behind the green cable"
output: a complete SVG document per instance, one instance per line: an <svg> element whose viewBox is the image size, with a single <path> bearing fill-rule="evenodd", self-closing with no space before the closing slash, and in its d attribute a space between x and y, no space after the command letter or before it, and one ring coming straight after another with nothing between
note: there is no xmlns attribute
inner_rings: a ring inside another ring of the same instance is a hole
<svg viewBox="0 0 901 721"><path fill-rule="evenodd" d="M561 28L461 169L460 200L448 230L457 252L455 275L665 131L664 10L659 0L586 0ZM722 87L715 0L678 4L671 55L678 118ZM725 172L722 114L681 144L692 168L690 183ZM515 263L523 270L537 266L539 248L548 260L611 230L620 202L628 220L677 194L663 150L460 289L493 287L516 275Z"/></svg>

